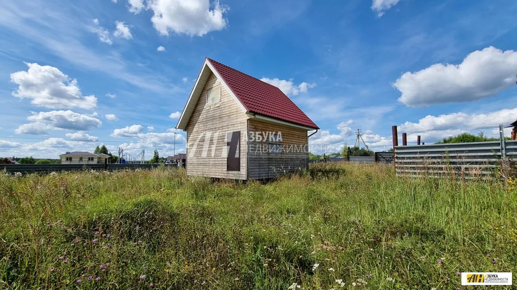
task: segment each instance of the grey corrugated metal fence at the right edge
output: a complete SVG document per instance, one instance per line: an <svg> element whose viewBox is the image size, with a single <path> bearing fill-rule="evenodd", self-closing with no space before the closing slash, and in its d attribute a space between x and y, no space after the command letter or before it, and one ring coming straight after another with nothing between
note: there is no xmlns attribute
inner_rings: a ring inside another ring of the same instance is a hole
<svg viewBox="0 0 517 290"><path fill-rule="evenodd" d="M397 176L494 178L501 157L515 162L517 140L397 146L395 152Z"/></svg>

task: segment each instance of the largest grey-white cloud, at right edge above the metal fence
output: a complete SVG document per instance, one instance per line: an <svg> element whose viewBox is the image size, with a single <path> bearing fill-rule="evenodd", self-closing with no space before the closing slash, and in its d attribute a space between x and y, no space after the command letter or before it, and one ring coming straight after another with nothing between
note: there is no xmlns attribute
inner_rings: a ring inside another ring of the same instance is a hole
<svg viewBox="0 0 517 290"><path fill-rule="evenodd" d="M406 106L469 102L492 96L515 85L517 51L493 46L475 51L459 65L436 63L427 69L406 72L394 83Z"/></svg>

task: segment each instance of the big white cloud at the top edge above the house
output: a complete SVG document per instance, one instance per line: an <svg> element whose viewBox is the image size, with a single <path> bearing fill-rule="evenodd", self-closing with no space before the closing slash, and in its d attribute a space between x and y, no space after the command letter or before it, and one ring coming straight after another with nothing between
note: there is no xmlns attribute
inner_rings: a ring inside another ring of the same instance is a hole
<svg viewBox="0 0 517 290"><path fill-rule="evenodd" d="M172 31L189 36L223 29L227 25L223 14L229 10L209 0L149 0L147 8L153 10L151 22L161 35Z"/></svg>

